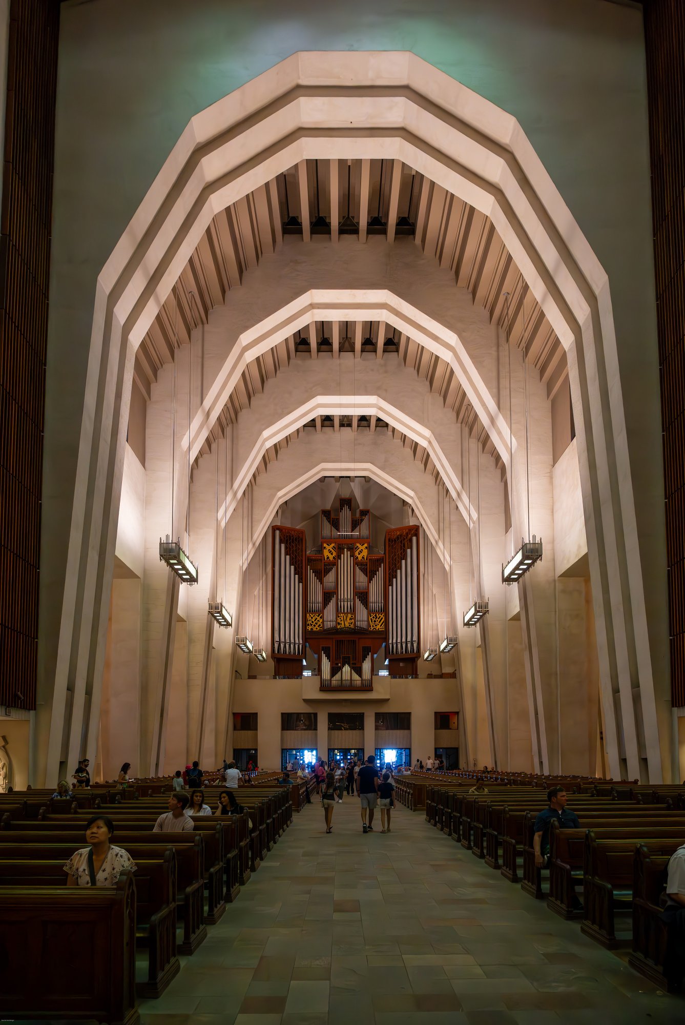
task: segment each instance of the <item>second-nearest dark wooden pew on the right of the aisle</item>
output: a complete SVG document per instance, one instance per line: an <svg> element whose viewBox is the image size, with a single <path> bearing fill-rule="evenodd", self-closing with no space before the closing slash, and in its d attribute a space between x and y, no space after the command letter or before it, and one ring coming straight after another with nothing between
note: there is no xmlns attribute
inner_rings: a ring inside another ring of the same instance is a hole
<svg viewBox="0 0 685 1025"><path fill-rule="evenodd" d="M671 855L685 843L685 829L626 830L632 837L600 839L592 829L586 836L583 916L580 932L611 949L618 943L615 912L633 903L635 850L645 843L654 856Z"/></svg>

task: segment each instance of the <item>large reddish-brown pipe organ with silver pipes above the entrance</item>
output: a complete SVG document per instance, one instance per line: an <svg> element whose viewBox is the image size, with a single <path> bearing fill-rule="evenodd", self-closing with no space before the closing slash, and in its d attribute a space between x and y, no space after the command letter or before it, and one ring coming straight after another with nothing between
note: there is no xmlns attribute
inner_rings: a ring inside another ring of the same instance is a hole
<svg viewBox="0 0 685 1025"><path fill-rule="evenodd" d="M321 510L321 543L306 552L303 530L273 530L273 657L277 676L299 676L305 646L322 689L371 689L381 646L393 675L415 675L420 651L418 528L386 532L371 546L371 514L352 499ZM305 586L303 586L303 584Z"/></svg>

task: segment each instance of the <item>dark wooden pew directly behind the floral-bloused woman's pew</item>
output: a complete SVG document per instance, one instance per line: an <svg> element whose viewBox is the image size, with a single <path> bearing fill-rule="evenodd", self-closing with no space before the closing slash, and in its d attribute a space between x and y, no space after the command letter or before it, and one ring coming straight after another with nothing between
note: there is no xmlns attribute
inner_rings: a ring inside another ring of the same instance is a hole
<svg viewBox="0 0 685 1025"><path fill-rule="evenodd" d="M195 833L135 833L117 836L118 844L128 851L133 861L154 860L160 855L160 846L173 847L176 854L177 891L176 906L183 916L184 937L178 952L192 954L207 938L204 921L204 849L202 836ZM153 839L154 837L154 839ZM74 851L84 846L83 832L2 832L0 858L5 860L58 860L63 865ZM87 888L83 888L87 889Z"/></svg>

